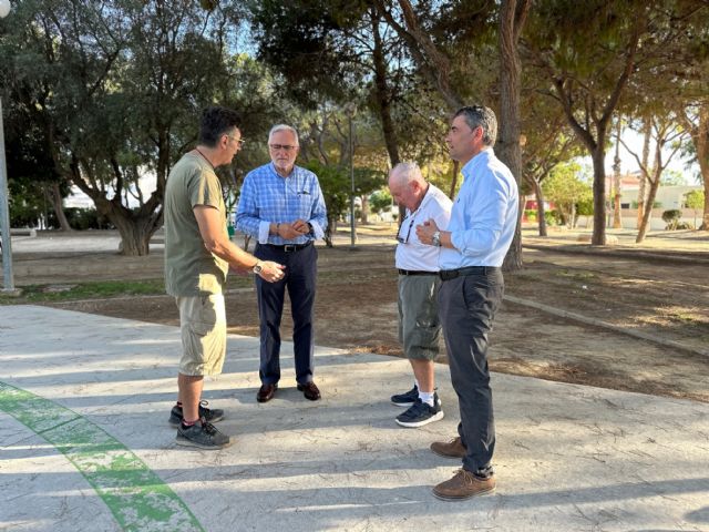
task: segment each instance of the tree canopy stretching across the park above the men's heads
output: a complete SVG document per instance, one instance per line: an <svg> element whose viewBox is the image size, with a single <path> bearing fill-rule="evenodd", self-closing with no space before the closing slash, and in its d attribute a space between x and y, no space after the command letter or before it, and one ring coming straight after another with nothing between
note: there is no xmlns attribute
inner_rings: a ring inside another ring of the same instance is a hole
<svg viewBox="0 0 709 532"><path fill-rule="evenodd" d="M335 223L351 166L363 202L403 160L452 194L448 113L483 103L497 112L499 156L542 206L554 168L590 156L602 245L618 121L681 129L709 187L708 28L701 0L17 0L0 21L12 196L59 219L74 185L124 253L145 254L169 168L216 103L242 113L247 139L220 172L225 188L268 160L267 132L287 122Z"/></svg>

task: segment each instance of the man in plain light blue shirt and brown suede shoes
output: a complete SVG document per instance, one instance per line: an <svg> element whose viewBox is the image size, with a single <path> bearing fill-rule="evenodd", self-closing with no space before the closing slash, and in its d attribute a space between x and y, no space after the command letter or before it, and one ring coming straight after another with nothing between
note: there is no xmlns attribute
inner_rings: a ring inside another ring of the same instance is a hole
<svg viewBox="0 0 709 532"><path fill-rule="evenodd" d="M432 219L417 226L422 243L441 247L439 313L461 413L458 438L431 444L436 454L463 459L463 468L452 479L433 488L433 494L445 500L467 499L495 488L487 335L502 301L501 266L520 204L512 172L493 152L496 134L492 110L474 105L455 113L445 141L451 157L463 165L463 185L446 231Z"/></svg>

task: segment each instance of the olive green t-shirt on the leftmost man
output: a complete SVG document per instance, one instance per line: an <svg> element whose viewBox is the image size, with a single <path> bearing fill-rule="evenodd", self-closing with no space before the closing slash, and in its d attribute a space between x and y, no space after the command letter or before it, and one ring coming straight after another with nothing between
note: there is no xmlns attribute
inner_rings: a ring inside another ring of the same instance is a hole
<svg viewBox="0 0 709 532"><path fill-rule="evenodd" d="M169 172L165 186L165 289L172 296L222 294L226 283L228 264L204 246L193 211L197 205L219 212L226 235L219 178L202 156L187 153Z"/></svg>

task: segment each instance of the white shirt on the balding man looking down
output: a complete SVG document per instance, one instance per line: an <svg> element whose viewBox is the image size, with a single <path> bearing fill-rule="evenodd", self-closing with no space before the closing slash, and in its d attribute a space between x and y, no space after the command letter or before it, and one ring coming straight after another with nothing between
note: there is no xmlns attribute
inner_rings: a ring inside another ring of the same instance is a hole
<svg viewBox="0 0 709 532"><path fill-rule="evenodd" d="M429 183L429 190L423 196L419 208L413 213L407 209L399 228L399 236L404 242L397 245L395 265L398 269L410 272L438 272L440 247L421 244L417 237L417 225L432 218L439 229L445 231L451 219L453 202L440 188Z"/></svg>

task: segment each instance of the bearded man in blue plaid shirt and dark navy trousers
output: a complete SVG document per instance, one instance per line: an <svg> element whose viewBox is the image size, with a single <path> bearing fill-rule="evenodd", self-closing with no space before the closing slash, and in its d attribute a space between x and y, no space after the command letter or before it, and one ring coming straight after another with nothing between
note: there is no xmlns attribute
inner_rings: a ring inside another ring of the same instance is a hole
<svg viewBox="0 0 709 532"><path fill-rule="evenodd" d="M320 399L320 390L312 381L318 260L312 244L325 234L327 213L317 175L295 165L298 151L298 132L289 125L275 125L268 134L271 162L246 175L236 212L236 227L257 241L254 255L286 266L285 277L277 283L256 277L261 379L258 402L271 400L280 380L280 319L286 288L291 305L298 390L311 401Z"/></svg>

